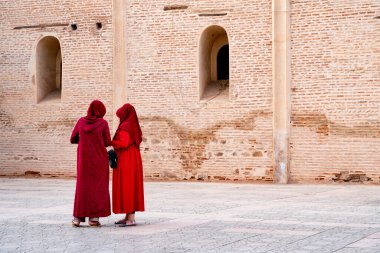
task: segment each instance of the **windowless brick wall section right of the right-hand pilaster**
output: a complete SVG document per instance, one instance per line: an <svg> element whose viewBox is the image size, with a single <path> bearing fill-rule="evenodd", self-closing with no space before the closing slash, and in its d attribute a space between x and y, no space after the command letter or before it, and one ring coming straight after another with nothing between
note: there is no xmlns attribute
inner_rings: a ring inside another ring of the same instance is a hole
<svg viewBox="0 0 380 253"><path fill-rule="evenodd" d="M378 1L291 10L292 181L379 182Z"/></svg>

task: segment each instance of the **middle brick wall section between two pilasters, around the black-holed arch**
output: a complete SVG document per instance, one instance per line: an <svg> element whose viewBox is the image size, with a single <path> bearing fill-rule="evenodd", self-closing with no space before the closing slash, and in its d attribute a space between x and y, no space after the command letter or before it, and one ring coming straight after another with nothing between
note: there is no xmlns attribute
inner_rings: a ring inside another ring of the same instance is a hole
<svg viewBox="0 0 380 253"><path fill-rule="evenodd" d="M272 181L271 2L127 3L127 93L145 135L145 175ZM230 99L205 102L198 53L211 25L228 34Z"/></svg>

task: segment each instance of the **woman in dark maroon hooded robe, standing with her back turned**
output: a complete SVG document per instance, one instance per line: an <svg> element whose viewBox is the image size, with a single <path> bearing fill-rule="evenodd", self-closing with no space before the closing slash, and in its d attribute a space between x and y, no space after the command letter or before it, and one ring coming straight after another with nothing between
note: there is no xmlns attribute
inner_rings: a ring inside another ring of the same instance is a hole
<svg viewBox="0 0 380 253"><path fill-rule="evenodd" d="M89 217L90 226L100 226L99 217L111 215L109 168L106 147L111 145L108 123L103 119L106 107L99 100L91 102L87 116L78 120L71 143L78 143L77 182L74 220L79 227Z"/></svg>

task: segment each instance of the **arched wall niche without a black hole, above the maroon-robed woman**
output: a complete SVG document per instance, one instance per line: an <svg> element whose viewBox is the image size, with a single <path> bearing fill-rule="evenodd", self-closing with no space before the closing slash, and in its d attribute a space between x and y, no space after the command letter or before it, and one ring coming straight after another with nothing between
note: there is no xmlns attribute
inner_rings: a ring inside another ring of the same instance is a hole
<svg viewBox="0 0 380 253"><path fill-rule="evenodd" d="M47 36L37 44L37 103L60 100L62 91L62 55L57 38Z"/></svg>

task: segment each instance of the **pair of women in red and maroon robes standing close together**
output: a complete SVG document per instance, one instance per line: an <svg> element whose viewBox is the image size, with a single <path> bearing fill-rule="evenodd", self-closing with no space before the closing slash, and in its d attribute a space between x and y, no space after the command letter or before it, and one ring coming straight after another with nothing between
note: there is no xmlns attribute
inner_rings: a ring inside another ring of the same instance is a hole
<svg viewBox="0 0 380 253"><path fill-rule="evenodd" d="M118 155L118 165L112 177L113 212L126 214L116 224L135 225L134 212L144 211L143 170L139 150L142 133L136 111L130 104L125 104L117 111L120 124L112 142L108 123L103 119L105 113L104 104L94 100L87 116L78 120L70 138L71 143L78 143L74 226L80 226L86 217L89 217L90 226L100 226L99 217L111 214L106 150L111 144Z"/></svg>

